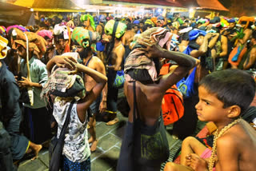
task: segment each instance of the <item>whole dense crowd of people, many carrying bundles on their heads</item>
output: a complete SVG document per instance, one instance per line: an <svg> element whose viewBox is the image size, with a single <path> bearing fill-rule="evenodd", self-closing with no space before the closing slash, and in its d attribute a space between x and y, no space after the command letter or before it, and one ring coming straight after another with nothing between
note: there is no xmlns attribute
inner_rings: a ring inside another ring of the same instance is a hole
<svg viewBox="0 0 256 171"><path fill-rule="evenodd" d="M68 113L61 169L90 170L96 117L118 123L120 88L129 107L117 170L160 170L170 153L162 99L173 85L184 116L172 133L184 141L180 165L165 170L254 170L256 109L242 118L255 94L255 18L35 19L35 26L0 26L1 170L17 169L13 162L26 153L37 158ZM166 63L169 73L160 76ZM198 119L217 128L210 146L190 137Z"/></svg>

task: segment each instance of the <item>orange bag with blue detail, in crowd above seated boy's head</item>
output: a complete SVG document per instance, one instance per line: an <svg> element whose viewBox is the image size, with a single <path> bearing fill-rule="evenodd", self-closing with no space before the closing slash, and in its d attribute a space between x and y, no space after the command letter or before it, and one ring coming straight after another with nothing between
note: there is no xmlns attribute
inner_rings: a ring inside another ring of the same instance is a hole
<svg viewBox="0 0 256 171"><path fill-rule="evenodd" d="M246 54L247 48L246 46L236 46L231 52L230 52L230 56L228 58L228 61L230 62L230 64L232 66L238 66L239 63L242 60L242 57L244 54ZM238 54L239 53L239 54ZM232 61L232 58L234 58L235 55L238 55L238 58L236 61Z"/></svg>

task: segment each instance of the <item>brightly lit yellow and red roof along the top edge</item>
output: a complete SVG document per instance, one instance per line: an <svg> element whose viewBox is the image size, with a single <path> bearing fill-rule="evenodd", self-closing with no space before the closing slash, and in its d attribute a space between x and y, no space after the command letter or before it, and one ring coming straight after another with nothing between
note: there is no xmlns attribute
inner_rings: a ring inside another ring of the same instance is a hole
<svg viewBox="0 0 256 171"><path fill-rule="evenodd" d="M88 9L106 10L106 7L122 5L148 8L176 8L186 10L194 7L205 10L227 10L218 0L6 0L17 6L26 6L37 11L85 12ZM94 5L94 6L89 6Z"/></svg>

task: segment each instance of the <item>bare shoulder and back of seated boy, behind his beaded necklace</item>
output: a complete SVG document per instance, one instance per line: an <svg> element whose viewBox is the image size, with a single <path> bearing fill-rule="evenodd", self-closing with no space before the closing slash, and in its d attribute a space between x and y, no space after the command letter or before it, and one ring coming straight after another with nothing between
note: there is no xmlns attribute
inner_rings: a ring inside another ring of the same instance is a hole
<svg viewBox="0 0 256 171"><path fill-rule="evenodd" d="M256 131L242 120L218 139L216 170L255 170L255 155Z"/></svg>

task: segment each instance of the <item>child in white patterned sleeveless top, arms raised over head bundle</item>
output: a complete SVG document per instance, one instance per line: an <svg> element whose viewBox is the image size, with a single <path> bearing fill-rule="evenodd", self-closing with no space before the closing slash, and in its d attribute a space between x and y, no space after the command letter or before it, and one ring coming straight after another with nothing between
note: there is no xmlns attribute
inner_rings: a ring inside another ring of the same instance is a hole
<svg viewBox="0 0 256 171"><path fill-rule="evenodd" d="M54 69L57 69L54 70L53 67ZM68 70L66 67L69 67L72 70ZM64 125L67 109L69 109L71 101L75 100L71 109L70 123L66 129L66 137L62 150L62 170L90 171L90 146L87 139L86 129L88 114L86 111L102 92L107 78L103 74L100 74L89 67L75 63L74 58L71 57L56 56L52 58L50 62L47 63L47 70L50 72L52 69L53 71L51 72L49 82L47 82L44 87L42 94L46 94L46 96L50 95L52 101L54 101L53 114L58 122L58 136ZM79 85L84 85L82 78L78 73L88 74L96 82L94 87L87 94L85 89L80 89L81 91L78 91L77 93L67 93L67 87L71 86L72 88L71 82L73 79L79 80L77 82ZM62 82L56 84L56 79L62 79ZM66 88L64 91L63 87ZM62 97L61 95L54 96L53 93L50 94L53 90L59 89L62 89L60 94L64 93L65 97Z"/></svg>

